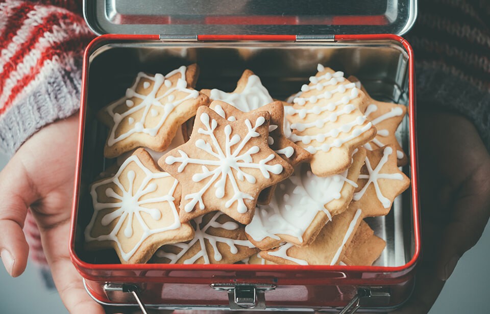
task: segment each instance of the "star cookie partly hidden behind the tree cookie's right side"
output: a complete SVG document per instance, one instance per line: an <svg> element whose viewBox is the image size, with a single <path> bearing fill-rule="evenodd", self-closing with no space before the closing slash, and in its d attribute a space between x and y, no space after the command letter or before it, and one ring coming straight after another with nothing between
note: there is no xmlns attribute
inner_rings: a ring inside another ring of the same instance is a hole
<svg viewBox="0 0 490 314"><path fill-rule="evenodd" d="M407 107L402 104L377 101L367 94L366 90L355 76L349 76L348 80L356 83L364 92L367 99L369 99L365 103L365 108L361 109L361 111L364 112L367 119L369 119L378 130L376 137L371 142L364 144L364 148L374 150L386 145L395 145L398 166L405 166L408 164L408 157L395 136L398 126L407 113Z"/></svg>

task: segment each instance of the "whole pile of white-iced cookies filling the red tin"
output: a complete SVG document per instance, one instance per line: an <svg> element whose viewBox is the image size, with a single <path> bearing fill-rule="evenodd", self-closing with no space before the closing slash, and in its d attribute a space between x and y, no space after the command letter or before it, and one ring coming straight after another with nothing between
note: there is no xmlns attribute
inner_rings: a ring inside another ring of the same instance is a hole
<svg viewBox="0 0 490 314"><path fill-rule="evenodd" d="M322 65L288 101L250 70L230 93L197 77L139 73L100 111L118 168L90 187L86 248L123 264L372 265L385 242L363 219L410 184L405 106Z"/></svg>

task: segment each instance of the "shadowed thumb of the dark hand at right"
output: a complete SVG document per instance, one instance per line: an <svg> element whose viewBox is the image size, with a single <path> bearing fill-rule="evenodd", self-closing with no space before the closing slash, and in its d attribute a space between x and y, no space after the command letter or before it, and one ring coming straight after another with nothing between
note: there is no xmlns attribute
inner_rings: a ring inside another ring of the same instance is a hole
<svg viewBox="0 0 490 314"><path fill-rule="evenodd" d="M490 216L490 163L483 164L456 194L450 221L443 232L437 276L447 280L459 258L480 239Z"/></svg>

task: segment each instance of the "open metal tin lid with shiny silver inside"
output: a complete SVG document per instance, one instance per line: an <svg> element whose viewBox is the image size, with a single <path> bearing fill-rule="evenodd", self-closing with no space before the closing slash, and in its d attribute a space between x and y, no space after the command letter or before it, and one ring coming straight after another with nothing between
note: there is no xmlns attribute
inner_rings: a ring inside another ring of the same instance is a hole
<svg viewBox="0 0 490 314"><path fill-rule="evenodd" d="M403 35L416 12L416 0L84 0L99 35Z"/></svg>

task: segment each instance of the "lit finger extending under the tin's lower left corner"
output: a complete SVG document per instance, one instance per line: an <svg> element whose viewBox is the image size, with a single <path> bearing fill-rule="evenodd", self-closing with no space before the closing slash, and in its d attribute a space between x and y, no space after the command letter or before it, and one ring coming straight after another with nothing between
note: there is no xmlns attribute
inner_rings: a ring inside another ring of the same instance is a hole
<svg viewBox="0 0 490 314"><path fill-rule="evenodd" d="M82 277L71 263L67 241L69 229L68 220L61 221L50 229L41 229L42 245L56 289L71 314L104 314L102 306L85 291Z"/></svg>

